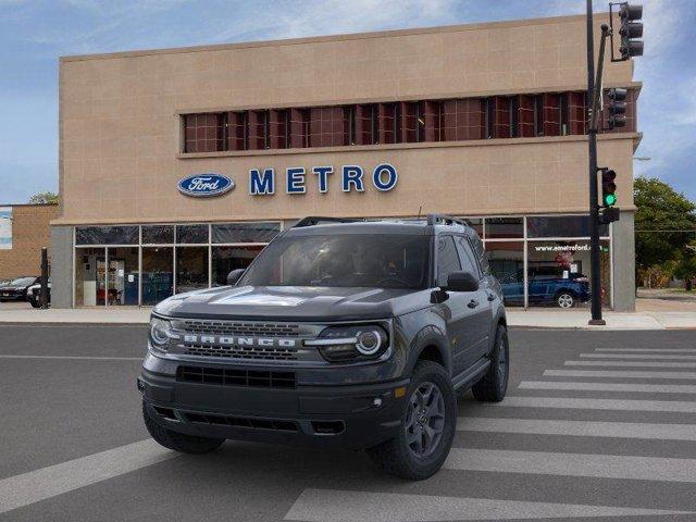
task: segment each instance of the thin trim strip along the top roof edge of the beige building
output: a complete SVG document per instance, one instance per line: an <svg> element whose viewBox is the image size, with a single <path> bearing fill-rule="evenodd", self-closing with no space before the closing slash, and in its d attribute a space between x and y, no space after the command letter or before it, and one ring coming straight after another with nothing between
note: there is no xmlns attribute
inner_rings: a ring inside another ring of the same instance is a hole
<svg viewBox="0 0 696 522"><path fill-rule="evenodd" d="M595 13L596 15L609 14L609 13ZM74 54L60 57L59 60L63 62L76 62L83 60L100 60L100 59L116 59L116 58L133 58L144 57L149 54L178 54L188 52L202 52L202 51L219 51L227 49L246 49L246 48L261 48L273 46L296 46L300 44L314 44L325 41L348 41L348 40L363 40L370 38L384 38L384 37L397 37L397 36L411 36L411 35L425 35L425 34L438 34L438 33L459 33L463 30L475 29L489 29L489 28L505 28L505 27L523 27L527 25L543 25L554 24L561 21L575 22L585 20L584 14L564 15L564 16L548 16L537 18L521 18L510 20L502 22L482 22L475 24L457 24L457 25L444 25L435 27L419 27L411 29L390 29L390 30L377 30L369 33L348 33L339 35L326 35L326 36L312 36L302 38L287 38L279 40L260 40L260 41L246 41L236 44L214 44L208 46L189 46L189 47L173 47L162 49L141 49L133 51L121 52L104 52L96 54Z"/></svg>

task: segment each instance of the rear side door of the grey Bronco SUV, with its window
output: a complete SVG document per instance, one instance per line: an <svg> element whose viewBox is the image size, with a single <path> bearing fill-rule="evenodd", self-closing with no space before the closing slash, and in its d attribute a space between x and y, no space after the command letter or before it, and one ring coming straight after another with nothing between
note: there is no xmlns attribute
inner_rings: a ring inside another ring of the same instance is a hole
<svg viewBox="0 0 696 522"><path fill-rule="evenodd" d="M471 349L476 355L475 359L488 353L488 341L490 337L490 326L493 321L493 307L490 300L495 298L493 289L487 288L487 283L483 278L483 272L476 257L474 256L471 243L465 236L456 236L457 250L461 259L462 270L471 272L478 278L478 290L468 291L467 307L471 310L467 328L471 339Z"/></svg>

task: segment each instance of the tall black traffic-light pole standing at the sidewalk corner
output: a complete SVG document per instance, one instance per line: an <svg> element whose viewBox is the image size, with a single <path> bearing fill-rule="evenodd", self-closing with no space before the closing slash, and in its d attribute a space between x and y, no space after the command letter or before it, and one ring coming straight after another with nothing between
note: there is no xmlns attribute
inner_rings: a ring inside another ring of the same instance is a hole
<svg viewBox="0 0 696 522"><path fill-rule="evenodd" d="M587 0L587 102L595 100L595 38L592 16L592 0ZM591 123L595 121L596 108L593 108ZM601 277L599 273L599 208L597 206L597 128L589 126L589 265L592 291L592 319L589 324L606 324L601 319Z"/></svg>

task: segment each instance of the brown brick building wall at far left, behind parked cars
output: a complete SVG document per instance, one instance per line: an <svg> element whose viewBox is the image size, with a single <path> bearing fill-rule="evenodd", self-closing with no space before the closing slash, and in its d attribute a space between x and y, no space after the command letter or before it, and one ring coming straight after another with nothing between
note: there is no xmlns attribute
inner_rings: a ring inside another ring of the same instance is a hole
<svg viewBox="0 0 696 522"><path fill-rule="evenodd" d="M10 207L12 207L12 249L0 249L0 279L21 275L40 275L41 247L47 247L50 256L49 223L58 217L58 206Z"/></svg>

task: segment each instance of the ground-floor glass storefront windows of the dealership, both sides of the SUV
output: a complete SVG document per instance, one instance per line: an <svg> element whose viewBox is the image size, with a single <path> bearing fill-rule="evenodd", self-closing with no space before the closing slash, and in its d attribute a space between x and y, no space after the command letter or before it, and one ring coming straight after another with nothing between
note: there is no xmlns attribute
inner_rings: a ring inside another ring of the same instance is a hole
<svg viewBox="0 0 696 522"><path fill-rule="evenodd" d="M510 307L586 307L586 215L468 217ZM152 306L226 284L281 232L278 222L85 226L75 229L74 303ZM612 304L611 239L600 231L604 304Z"/></svg>

